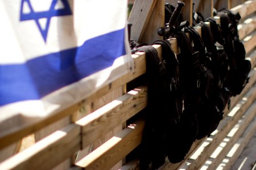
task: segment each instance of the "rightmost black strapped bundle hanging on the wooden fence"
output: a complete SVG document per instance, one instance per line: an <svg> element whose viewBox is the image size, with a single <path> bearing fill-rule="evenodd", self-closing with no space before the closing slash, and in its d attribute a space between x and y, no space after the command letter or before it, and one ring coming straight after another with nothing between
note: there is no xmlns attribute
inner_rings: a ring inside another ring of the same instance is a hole
<svg viewBox="0 0 256 170"><path fill-rule="evenodd" d="M217 16L221 18L221 35L225 40L222 45L228 55L230 67L224 84L232 96L236 96L249 82L248 74L251 69L250 61L245 59L245 47L238 36L237 24L241 17L239 13L235 15L226 8L218 11Z"/></svg>

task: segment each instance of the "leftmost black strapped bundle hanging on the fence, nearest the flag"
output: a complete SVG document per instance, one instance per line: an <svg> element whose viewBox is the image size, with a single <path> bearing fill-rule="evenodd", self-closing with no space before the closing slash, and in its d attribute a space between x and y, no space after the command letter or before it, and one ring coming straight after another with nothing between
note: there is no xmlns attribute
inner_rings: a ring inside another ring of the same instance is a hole
<svg viewBox="0 0 256 170"><path fill-rule="evenodd" d="M171 50L170 42L159 40L163 59L159 59L156 49L142 46L139 52L146 53L146 80L148 105L146 108L146 128L143 135L141 168L159 168L164 164L168 148L177 147L170 143L175 127L180 122L182 96L179 92L178 62Z"/></svg>

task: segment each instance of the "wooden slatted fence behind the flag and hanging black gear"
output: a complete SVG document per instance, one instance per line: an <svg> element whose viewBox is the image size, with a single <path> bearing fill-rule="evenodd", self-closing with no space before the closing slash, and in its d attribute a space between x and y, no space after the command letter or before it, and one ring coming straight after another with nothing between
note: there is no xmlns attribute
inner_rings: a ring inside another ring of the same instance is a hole
<svg viewBox="0 0 256 170"><path fill-rule="evenodd" d="M184 2L184 18L192 23L193 1ZM150 44L161 39L155 30L164 24L163 3L135 1L129 18L135 40ZM213 6L240 12L238 31L253 66L250 81L240 95L232 97L231 109L225 110L224 119L209 138L194 142L182 162L166 160L160 169L229 169L256 131L256 1L201 1L194 9L210 16ZM200 28L196 29L200 33ZM169 41L179 53L176 39ZM161 46L153 46L161 57ZM127 92L126 84L146 73L146 58L142 52L132 57L133 73L36 124L0 134L0 169L138 169L139 159L126 156L142 141L145 121L134 117L147 106L147 87L141 84Z"/></svg>

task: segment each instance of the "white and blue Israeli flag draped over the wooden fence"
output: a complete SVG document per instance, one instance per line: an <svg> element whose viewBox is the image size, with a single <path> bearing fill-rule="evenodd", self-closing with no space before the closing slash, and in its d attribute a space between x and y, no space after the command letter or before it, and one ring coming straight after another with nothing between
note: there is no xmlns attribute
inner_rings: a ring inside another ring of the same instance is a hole
<svg viewBox="0 0 256 170"><path fill-rule="evenodd" d="M133 71L127 1L0 0L0 20L0 134Z"/></svg>

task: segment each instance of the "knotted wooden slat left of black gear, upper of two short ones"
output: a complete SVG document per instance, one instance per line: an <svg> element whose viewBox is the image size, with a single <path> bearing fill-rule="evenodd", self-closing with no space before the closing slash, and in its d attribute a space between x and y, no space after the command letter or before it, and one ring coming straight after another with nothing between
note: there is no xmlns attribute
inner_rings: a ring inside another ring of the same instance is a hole
<svg viewBox="0 0 256 170"><path fill-rule="evenodd" d="M82 126L82 148L122 124L147 105L147 88L138 87L77 121Z"/></svg>

